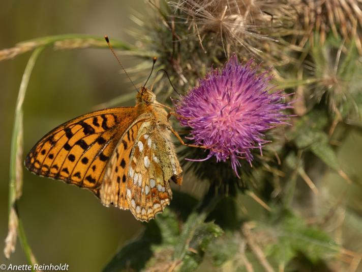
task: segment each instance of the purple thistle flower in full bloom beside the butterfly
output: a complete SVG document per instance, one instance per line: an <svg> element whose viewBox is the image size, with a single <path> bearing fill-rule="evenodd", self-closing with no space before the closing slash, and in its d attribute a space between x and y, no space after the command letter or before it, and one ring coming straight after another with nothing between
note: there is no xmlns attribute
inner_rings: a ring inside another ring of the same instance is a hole
<svg viewBox="0 0 362 272"><path fill-rule="evenodd" d="M271 92L276 87L269 86L272 76L258 74L252 64L239 64L234 55L221 71L208 73L199 87L175 102L180 124L191 128L188 139L210 149L206 158L196 161L214 155L217 161L230 158L237 177L239 158L251 164L255 148L262 155L262 146L269 142L264 132L287 124L283 110L292 107L283 102L282 90Z"/></svg>

